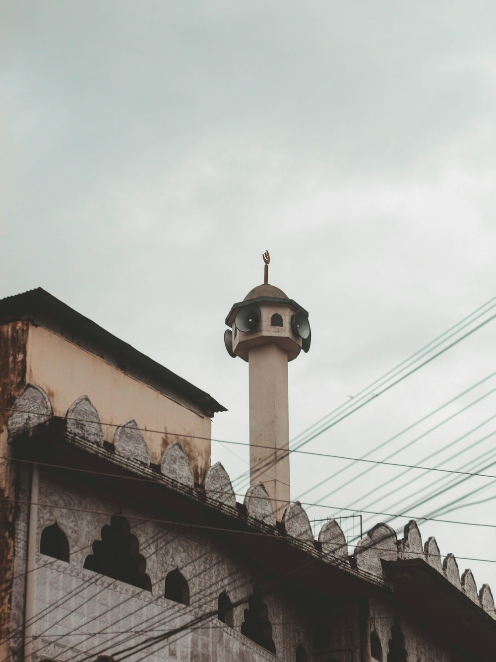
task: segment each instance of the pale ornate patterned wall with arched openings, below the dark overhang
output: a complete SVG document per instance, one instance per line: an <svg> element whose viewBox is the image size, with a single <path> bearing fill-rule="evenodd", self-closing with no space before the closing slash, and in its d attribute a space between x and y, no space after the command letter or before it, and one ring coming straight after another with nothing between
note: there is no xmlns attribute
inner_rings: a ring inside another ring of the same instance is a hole
<svg viewBox="0 0 496 662"><path fill-rule="evenodd" d="M39 500L45 505L40 506L38 512L37 548L42 530L57 521L69 539L71 557L69 563L65 563L37 555L34 662L42 659L77 660L90 654L96 657L107 646L110 646L107 654L116 653L142 640L134 634L137 630L153 636L186 624L216 610L220 592L227 591L235 602L249 594L254 583L267 580L249 564L240 563L229 549L214 542L209 532L151 522L144 519L144 513L130 510L123 504L100 498L87 490L79 491L76 487L60 487L47 478L40 481ZM140 542L140 553L147 561L151 593L83 569L93 541L101 539L102 527L110 522L110 516L101 513L121 509L130 521L132 533ZM23 520L25 512L18 519L20 528L25 526ZM22 549L19 553L22 556ZM165 576L175 567L188 580L190 606L163 597ZM19 587L22 591L22 581ZM15 589L17 592L18 587ZM267 596L265 604L272 623L277 658L294 662L296 647L300 644L310 651L311 625L298 604L278 594ZM190 628L185 634L131 659L147 659L149 662L273 661L275 658L271 653L240 632L246 606L235 608L233 628L214 617L201 628ZM20 659L19 641L17 646L12 651L13 659Z"/></svg>

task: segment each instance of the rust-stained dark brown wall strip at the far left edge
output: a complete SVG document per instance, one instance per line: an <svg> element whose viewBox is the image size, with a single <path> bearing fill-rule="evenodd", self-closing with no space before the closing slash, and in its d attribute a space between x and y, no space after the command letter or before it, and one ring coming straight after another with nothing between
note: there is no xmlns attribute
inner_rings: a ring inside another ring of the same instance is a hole
<svg viewBox="0 0 496 662"><path fill-rule="evenodd" d="M7 459L9 407L21 393L26 378L28 322L0 326L0 659L9 657L16 504L15 467Z"/></svg>

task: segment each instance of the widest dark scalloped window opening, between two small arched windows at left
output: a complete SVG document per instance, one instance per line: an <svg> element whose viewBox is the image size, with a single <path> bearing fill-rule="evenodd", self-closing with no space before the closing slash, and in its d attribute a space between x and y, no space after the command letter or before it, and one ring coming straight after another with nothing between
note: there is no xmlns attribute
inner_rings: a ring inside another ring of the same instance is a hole
<svg viewBox="0 0 496 662"><path fill-rule="evenodd" d="M85 559L87 570L101 573L111 579L151 591L151 581L145 574L146 561L139 553L138 538L130 533L128 520L112 515L110 526L105 524L101 540L93 542L93 554Z"/></svg>

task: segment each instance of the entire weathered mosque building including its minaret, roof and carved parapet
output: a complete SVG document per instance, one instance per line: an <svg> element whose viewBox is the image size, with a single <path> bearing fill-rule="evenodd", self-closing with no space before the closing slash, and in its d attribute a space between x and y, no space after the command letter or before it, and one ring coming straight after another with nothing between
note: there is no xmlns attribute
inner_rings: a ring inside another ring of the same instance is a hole
<svg viewBox="0 0 496 662"><path fill-rule="evenodd" d="M210 465L222 405L42 289L0 301L0 662L495 659L491 590L415 522L349 556L290 502L306 316L268 283L227 316L251 380L241 504Z"/></svg>

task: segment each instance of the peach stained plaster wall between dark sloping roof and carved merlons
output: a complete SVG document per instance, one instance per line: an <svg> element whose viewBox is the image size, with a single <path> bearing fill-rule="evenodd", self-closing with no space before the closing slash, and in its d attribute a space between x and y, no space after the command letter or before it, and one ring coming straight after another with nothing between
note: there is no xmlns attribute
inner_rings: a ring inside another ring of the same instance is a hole
<svg viewBox="0 0 496 662"><path fill-rule="evenodd" d="M115 426L134 418L140 428L145 428L143 434L153 463L159 463L164 449L179 439L195 481L203 481L210 466L208 416L167 398L41 326L29 328L26 379L45 391L56 416L65 416L75 399L87 395L101 421L112 424L103 426L105 440L110 443Z"/></svg>

